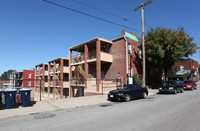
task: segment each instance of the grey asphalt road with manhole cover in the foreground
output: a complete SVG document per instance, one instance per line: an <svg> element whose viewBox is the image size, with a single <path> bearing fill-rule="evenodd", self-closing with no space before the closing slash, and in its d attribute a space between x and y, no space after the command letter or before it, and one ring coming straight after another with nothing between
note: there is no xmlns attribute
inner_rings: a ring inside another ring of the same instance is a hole
<svg viewBox="0 0 200 131"><path fill-rule="evenodd" d="M199 131L200 87L130 102L0 119L1 131Z"/></svg>

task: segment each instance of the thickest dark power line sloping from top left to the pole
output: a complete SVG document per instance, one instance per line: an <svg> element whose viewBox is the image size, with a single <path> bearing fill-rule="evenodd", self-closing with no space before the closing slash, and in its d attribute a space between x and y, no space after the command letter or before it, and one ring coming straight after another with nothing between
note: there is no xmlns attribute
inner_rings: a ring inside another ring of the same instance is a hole
<svg viewBox="0 0 200 131"><path fill-rule="evenodd" d="M131 29L131 30L134 30L134 31L137 31L137 32L140 32L140 33L141 33L141 31L139 31L139 30L137 30L137 29L134 29L134 28L131 28L131 27L128 27L128 26L124 26L124 25L121 25L121 24L118 24L118 23L115 23L115 22L112 22L112 21L109 21L109 20L106 20L106 19L103 19L103 18L94 16L94 15L90 15L90 14L88 14L88 13L84 13L84 12L81 12L81 11L78 11L78 10L75 10L75 9L72 9L72 8L67 7L67 6L63 6L63 5L60 5L60 4L57 4L57 3L54 3L54 2L48 1L48 0L43 0L43 1L44 1L44 2L47 2L47 3L49 3L49 4L52 4L52 5L55 5L55 6L64 8L64 9L67 9L67 10L71 10L71 11L76 12L76 13L79 13L79 14L83 14L83 15L86 15L86 16L89 16L89 17L92 17L92 18L95 18L95 19L98 19L98 20L101 20L101 21L104 21L104 22L107 22L107 23L110 23L110 24L113 24L113 25L121 26L121 27L124 27L124 28L127 28L127 29Z"/></svg>

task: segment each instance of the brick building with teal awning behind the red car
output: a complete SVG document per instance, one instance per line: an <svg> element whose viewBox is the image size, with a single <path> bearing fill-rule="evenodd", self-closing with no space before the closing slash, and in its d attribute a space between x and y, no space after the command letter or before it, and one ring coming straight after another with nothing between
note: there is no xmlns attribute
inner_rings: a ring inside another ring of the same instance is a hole
<svg viewBox="0 0 200 131"><path fill-rule="evenodd" d="M176 76L175 78L178 78L180 80L188 80L192 79L195 81L198 81L198 62L188 58L183 60L178 60L175 62L175 66L177 68Z"/></svg>

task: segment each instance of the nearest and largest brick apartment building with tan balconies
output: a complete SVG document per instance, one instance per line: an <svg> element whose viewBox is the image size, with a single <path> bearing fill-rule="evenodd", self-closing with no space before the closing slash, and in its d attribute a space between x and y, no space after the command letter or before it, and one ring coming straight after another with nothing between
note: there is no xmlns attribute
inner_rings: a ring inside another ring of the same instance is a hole
<svg viewBox="0 0 200 131"><path fill-rule="evenodd" d="M97 37L69 48L70 96L101 93L101 80L132 84L133 75L141 76L142 71L139 45L136 34L122 31L111 40Z"/></svg>

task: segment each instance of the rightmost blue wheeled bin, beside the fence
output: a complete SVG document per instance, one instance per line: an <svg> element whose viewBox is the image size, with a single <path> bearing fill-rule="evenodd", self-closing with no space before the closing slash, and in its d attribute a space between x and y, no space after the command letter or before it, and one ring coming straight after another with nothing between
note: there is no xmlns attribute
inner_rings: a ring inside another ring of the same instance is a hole
<svg viewBox="0 0 200 131"><path fill-rule="evenodd" d="M20 95L21 95L21 106L26 107L28 106L28 103L30 102L30 93L31 89L28 88L22 88L19 90Z"/></svg>

